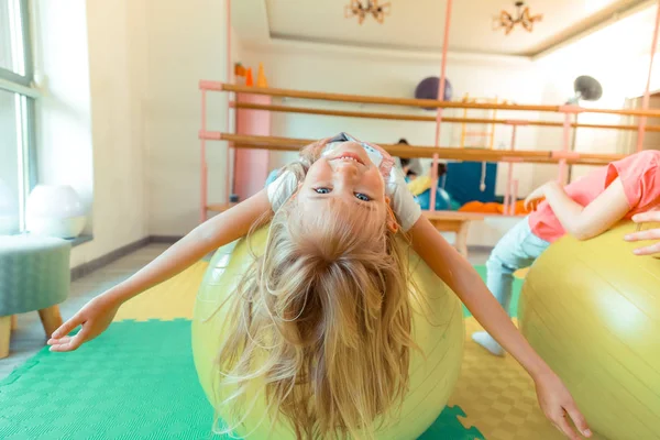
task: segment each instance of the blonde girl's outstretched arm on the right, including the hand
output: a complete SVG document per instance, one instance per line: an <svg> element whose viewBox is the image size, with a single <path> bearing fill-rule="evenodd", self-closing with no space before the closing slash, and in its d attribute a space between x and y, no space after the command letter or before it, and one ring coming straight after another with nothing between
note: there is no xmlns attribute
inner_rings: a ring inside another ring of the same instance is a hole
<svg viewBox="0 0 660 440"><path fill-rule="evenodd" d="M493 336L534 378L546 416L565 436L579 439L564 413L590 437L584 417L561 380L534 351L487 289L472 265L463 258L422 216L409 231L413 248L431 270L458 295L484 329Z"/></svg>

